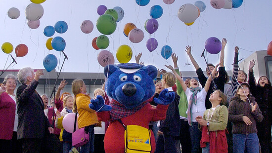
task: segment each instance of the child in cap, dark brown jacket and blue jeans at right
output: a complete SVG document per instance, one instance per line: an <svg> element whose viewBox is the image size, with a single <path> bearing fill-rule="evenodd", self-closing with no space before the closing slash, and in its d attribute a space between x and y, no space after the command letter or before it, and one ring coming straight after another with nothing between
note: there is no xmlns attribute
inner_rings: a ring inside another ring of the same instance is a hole
<svg viewBox="0 0 272 153"><path fill-rule="evenodd" d="M228 119L233 123L233 153L259 153L256 121L263 120L255 98L250 96L249 84L242 82L228 107Z"/></svg>

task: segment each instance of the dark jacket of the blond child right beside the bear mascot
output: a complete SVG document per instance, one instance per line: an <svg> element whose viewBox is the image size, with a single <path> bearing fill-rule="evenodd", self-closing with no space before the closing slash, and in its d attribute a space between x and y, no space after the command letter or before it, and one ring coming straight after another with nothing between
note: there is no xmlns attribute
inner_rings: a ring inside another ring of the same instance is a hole
<svg viewBox="0 0 272 153"><path fill-rule="evenodd" d="M166 135L180 136L180 96L175 92L175 99L169 104L166 118L161 121L160 131Z"/></svg>

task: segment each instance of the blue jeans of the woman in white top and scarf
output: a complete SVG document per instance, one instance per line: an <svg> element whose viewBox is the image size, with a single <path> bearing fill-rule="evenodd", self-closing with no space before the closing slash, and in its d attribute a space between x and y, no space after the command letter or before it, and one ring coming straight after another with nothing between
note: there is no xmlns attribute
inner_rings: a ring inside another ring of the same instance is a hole
<svg viewBox="0 0 272 153"><path fill-rule="evenodd" d="M192 126L189 127L192 143L192 153L199 153L200 151L201 131L197 126L198 122L193 122Z"/></svg>

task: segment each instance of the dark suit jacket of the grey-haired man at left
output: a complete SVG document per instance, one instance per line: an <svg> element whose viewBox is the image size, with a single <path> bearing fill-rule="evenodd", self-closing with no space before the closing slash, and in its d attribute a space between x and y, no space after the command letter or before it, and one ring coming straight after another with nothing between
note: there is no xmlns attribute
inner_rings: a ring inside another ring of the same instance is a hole
<svg viewBox="0 0 272 153"><path fill-rule="evenodd" d="M30 85L22 84L16 92L18 106L17 139L38 138L45 136L45 130L51 126L44 113L44 103L36 92L39 82L33 79ZM51 126L52 127L52 126Z"/></svg>

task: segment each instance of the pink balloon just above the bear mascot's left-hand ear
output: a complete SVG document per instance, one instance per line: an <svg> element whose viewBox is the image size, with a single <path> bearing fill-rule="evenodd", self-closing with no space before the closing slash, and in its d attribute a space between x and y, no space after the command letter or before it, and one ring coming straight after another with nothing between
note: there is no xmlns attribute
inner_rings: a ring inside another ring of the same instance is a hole
<svg viewBox="0 0 272 153"><path fill-rule="evenodd" d="M97 61L102 67L105 67L107 65L114 64L114 57L111 52L102 50L97 56Z"/></svg>

